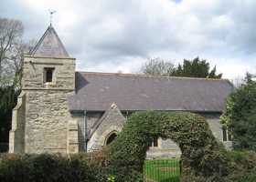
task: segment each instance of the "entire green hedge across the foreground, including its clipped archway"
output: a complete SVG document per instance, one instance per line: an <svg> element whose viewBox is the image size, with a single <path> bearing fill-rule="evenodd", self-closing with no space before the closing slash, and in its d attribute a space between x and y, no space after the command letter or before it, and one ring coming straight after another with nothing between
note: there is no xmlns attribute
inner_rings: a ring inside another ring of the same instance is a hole
<svg viewBox="0 0 256 182"><path fill-rule="evenodd" d="M206 119L184 112L138 112L112 144L97 153L1 155L0 181L143 182L146 150L155 137L170 138L182 151L181 181L256 181L256 155L227 151Z"/></svg>

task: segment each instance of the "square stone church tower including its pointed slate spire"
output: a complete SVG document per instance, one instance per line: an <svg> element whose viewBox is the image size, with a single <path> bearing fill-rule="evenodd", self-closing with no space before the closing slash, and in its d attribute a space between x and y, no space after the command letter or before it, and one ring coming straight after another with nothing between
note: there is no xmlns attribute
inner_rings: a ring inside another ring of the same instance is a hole
<svg viewBox="0 0 256 182"><path fill-rule="evenodd" d="M67 153L71 119L67 97L75 92L75 59L52 25L24 56L22 93L13 110L9 152Z"/></svg>

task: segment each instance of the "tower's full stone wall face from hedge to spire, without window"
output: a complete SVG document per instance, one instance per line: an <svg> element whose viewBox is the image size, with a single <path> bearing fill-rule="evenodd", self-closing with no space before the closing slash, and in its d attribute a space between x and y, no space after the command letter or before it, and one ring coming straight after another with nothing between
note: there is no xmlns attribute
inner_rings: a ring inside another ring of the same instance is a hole
<svg viewBox="0 0 256 182"><path fill-rule="evenodd" d="M53 82L44 83L44 68L54 68ZM26 92L25 152L67 153L69 114L67 97L75 90L72 58L25 57L23 91Z"/></svg>

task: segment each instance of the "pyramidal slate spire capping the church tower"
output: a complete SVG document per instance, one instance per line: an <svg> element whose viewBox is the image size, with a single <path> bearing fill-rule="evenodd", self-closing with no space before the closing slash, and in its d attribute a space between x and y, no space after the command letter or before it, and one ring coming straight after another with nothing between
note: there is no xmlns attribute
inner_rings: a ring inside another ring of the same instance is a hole
<svg viewBox="0 0 256 182"><path fill-rule="evenodd" d="M61 43L59 36L50 24L45 34L37 42L37 45L30 52L31 56L48 56L48 57L69 57L64 45Z"/></svg>

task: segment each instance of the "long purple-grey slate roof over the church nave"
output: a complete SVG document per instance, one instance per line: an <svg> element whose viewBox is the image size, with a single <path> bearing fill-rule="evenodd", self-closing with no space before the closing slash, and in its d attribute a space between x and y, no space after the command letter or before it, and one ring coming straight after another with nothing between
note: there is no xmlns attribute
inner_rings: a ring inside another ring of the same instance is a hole
<svg viewBox="0 0 256 182"><path fill-rule="evenodd" d="M115 103L122 111L222 112L232 88L226 79L77 72L68 101L70 111L105 111Z"/></svg>

